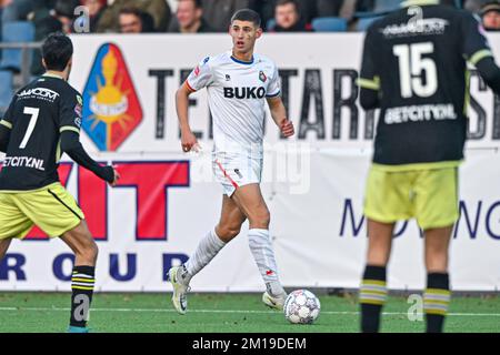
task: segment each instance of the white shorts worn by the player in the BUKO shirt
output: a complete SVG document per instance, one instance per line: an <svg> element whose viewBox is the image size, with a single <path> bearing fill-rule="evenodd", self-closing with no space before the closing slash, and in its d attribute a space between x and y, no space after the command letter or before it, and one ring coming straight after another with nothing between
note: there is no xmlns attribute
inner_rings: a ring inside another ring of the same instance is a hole
<svg viewBox="0 0 500 355"><path fill-rule="evenodd" d="M213 152L213 175L221 183L224 194L230 197L238 187L260 183L262 161L262 158L246 154Z"/></svg>

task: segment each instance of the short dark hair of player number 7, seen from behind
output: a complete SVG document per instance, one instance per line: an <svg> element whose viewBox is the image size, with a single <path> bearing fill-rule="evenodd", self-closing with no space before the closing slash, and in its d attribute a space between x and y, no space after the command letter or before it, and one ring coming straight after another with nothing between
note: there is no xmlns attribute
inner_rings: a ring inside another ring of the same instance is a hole
<svg viewBox="0 0 500 355"><path fill-rule="evenodd" d="M73 55L73 43L64 33L54 32L47 37L41 52L48 70L63 71Z"/></svg>

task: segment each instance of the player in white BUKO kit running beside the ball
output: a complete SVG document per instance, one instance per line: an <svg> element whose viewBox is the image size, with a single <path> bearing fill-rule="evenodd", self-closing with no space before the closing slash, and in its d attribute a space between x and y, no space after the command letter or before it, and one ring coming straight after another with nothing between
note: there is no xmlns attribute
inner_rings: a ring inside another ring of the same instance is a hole
<svg viewBox="0 0 500 355"><path fill-rule="evenodd" d="M260 191L266 101L283 136L293 135L294 129L281 101L277 67L253 53L256 40L262 36L259 14L249 9L237 11L229 34L232 50L203 59L176 95L182 150L189 152L198 144L189 125L189 95L207 88L213 118L213 173L224 191L217 226L183 265L169 270L172 302L180 314L187 312L190 280L240 233L247 219L250 250L266 284L262 302L282 310L287 297L269 237L270 214Z"/></svg>

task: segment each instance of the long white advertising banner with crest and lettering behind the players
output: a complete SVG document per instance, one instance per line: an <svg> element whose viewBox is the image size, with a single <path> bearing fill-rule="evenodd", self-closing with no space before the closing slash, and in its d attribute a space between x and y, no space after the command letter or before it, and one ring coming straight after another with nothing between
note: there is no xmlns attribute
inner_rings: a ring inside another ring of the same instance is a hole
<svg viewBox="0 0 500 355"><path fill-rule="evenodd" d="M491 36L500 58L500 36ZM204 153L180 152L174 93L204 57L230 49L229 36L76 36L71 84L82 92L82 142L118 165L111 189L70 161L61 181L98 241L98 291L169 291L166 272L186 261L219 219L222 189L211 172L204 92L191 122ZM258 51L280 68L297 136L267 121L262 191L284 286L358 287L367 247L362 217L373 113L357 105L362 34L266 34ZM450 251L454 290L500 286L500 100L472 78L468 151L460 174L460 220ZM192 281L200 292L261 291L247 224ZM72 256L33 230L0 262L0 290L70 290ZM398 224L389 287L422 288L423 241L414 221Z"/></svg>

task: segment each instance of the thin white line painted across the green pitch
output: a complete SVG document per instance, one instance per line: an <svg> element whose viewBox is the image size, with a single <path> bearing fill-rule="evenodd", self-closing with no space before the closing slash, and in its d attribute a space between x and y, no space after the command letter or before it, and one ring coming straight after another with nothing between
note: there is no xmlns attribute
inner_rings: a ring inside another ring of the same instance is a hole
<svg viewBox="0 0 500 355"><path fill-rule="evenodd" d="M67 307L0 307L1 311L32 311L32 312L68 312ZM91 308L91 312L138 312L138 313L176 313L174 310L162 308ZM241 313L241 314L276 314L276 311L243 311L243 310L190 310L189 313ZM321 314L357 315L358 312L322 311ZM383 315L407 315L404 312L383 312ZM449 316L499 317L500 313L448 313Z"/></svg>

